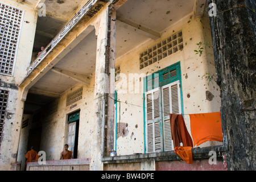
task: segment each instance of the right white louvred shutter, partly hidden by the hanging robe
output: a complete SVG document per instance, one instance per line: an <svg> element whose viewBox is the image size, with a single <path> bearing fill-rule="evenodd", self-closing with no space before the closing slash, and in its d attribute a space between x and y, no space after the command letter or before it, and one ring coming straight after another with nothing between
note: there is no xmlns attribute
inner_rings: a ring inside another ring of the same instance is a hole
<svg viewBox="0 0 256 182"><path fill-rule="evenodd" d="M162 87L164 151L174 150L172 144L170 113L181 114L179 81Z"/></svg>

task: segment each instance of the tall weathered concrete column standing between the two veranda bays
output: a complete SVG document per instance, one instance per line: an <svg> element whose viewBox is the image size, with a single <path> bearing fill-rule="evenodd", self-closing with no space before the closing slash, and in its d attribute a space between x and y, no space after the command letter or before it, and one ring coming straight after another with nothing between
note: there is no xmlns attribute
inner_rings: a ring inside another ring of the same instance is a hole
<svg viewBox="0 0 256 182"><path fill-rule="evenodd" d="M114 148L115 10L105 6L98 14L94 112L96 131L90 170L102 170L101 158ZM110 75L110 73L112 73Z"/></svg>

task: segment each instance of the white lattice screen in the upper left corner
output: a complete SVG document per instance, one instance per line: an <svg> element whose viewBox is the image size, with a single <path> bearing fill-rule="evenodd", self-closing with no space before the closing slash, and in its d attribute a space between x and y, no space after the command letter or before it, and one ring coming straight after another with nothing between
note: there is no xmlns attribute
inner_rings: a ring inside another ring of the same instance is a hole
<svg viewBox="0 0 256 182"><path fill-rule="evenodd" d="M23 11L0 2L0 73L13 75Z"/></svg>

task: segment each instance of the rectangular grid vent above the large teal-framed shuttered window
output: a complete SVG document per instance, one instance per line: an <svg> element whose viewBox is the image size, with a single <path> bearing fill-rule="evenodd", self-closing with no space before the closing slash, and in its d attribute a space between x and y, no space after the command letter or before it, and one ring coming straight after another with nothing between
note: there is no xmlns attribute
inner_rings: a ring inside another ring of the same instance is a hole
<svg viewBox="0 0 256 182"><path fill-rule="evenodd" d="M146 51L143 51L139 57L139 68L145 68L182 49L183 36L182 31L179 31L155 44L153 47L148 48Z"/></svg>

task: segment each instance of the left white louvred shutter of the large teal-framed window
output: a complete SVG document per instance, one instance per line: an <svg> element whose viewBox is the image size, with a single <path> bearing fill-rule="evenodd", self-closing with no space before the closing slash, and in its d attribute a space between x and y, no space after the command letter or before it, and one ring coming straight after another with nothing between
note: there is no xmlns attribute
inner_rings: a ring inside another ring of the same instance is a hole
<svg viewBox="0 0 256 182"><path fill-rule="evenodd" d="M162 134L160 123L159 89L146 93L147 152L160 152Z"/></svg>

